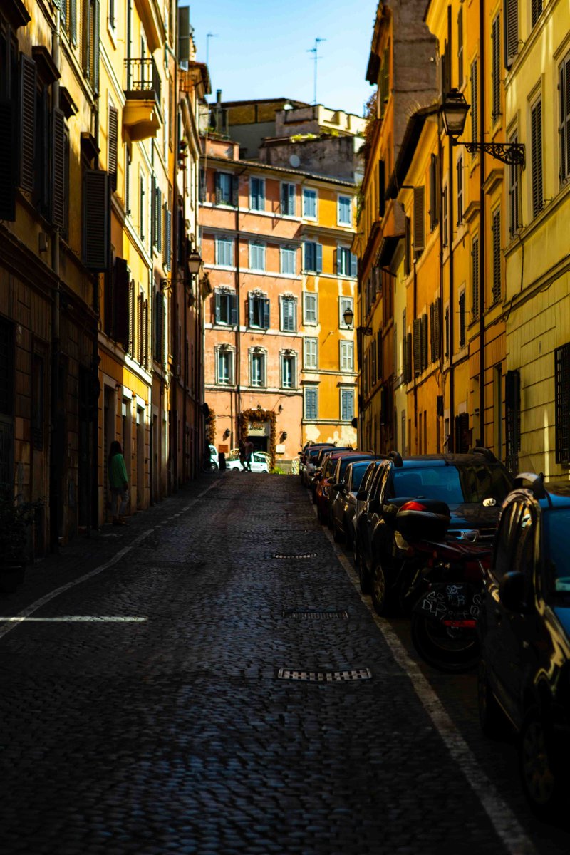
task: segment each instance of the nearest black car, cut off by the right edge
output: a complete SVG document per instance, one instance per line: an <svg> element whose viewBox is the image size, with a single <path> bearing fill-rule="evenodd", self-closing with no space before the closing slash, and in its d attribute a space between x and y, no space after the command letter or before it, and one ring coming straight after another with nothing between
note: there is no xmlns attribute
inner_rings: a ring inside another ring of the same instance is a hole
<svg viewBox="0 0 570 855"><path fill-rule="evenodd" d="M502 505L479 613L479 719L518 734L533 810L570 805L570 485L520 475Z"/></svg>

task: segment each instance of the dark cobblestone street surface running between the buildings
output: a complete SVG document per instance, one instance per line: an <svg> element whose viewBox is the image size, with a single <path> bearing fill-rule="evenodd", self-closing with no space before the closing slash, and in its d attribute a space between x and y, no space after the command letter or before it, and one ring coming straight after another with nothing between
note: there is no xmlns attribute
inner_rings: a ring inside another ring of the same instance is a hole
<svg viewBox="0 0 570 855"><path fill-rule="evenodd" d="M442 736L297 478L212 475L0 608L2 855L570 851L479 737L473 676L427 669Z"/></svg>

